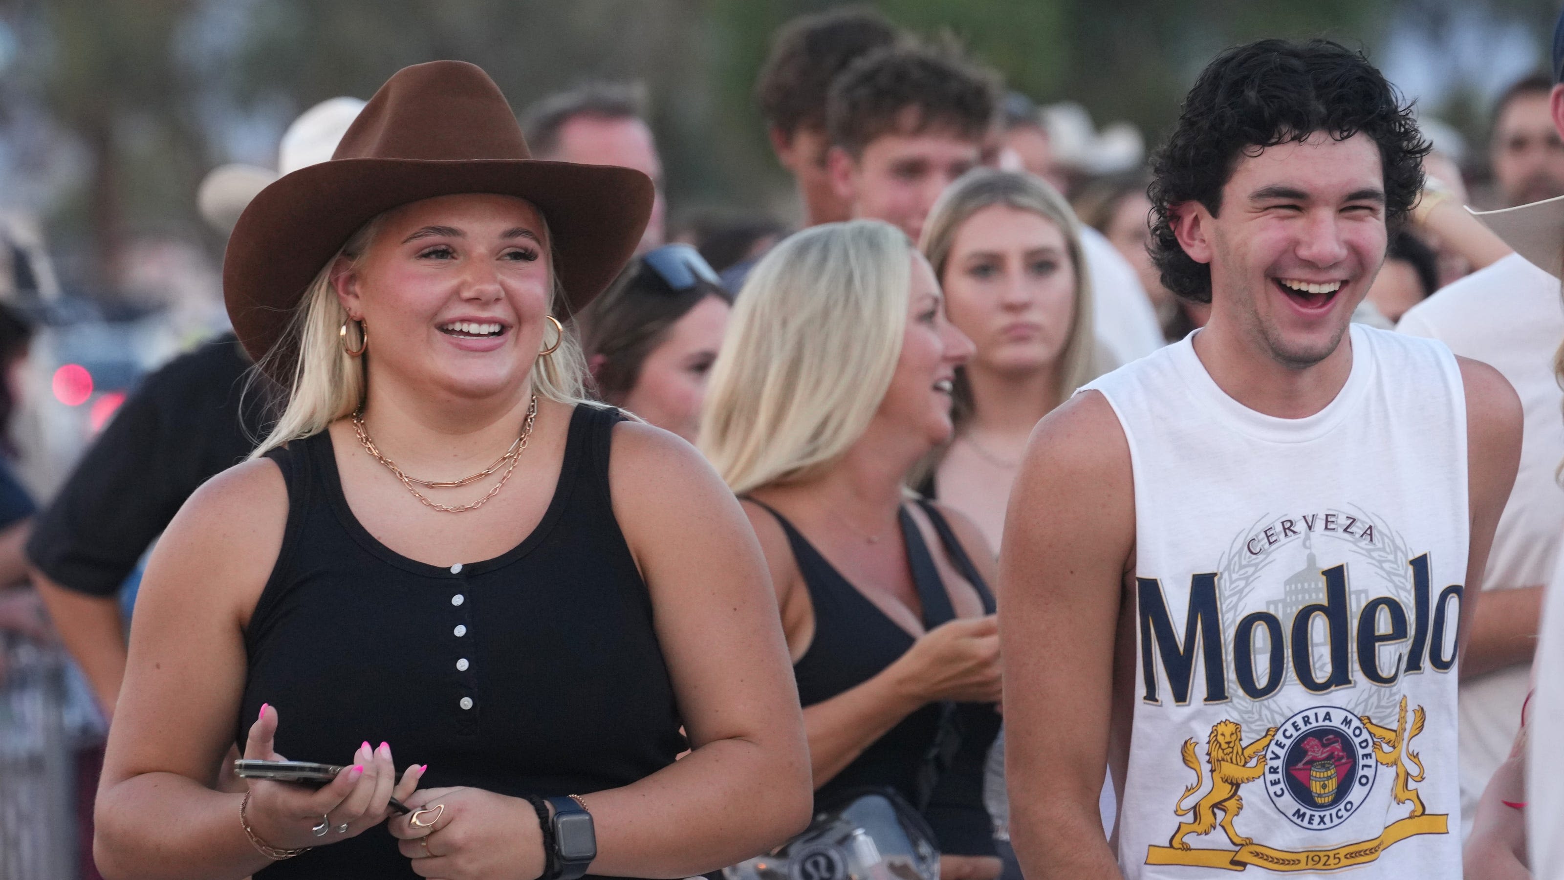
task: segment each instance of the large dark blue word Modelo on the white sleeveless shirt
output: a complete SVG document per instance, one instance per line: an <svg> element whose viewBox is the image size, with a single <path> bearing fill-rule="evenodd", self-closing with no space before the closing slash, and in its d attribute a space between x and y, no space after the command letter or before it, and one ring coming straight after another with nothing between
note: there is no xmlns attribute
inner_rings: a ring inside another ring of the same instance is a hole
<svg viewBox="0 0 1564 880"><path fill-rule="evenodd" d="M1325 694L1336 688L1353 686L1353 647L1358 650L1358 671L1375 685L1394 685L1403 674L1422 672L1423 664L1436 672L1448 672L1456 663L1456 647L1445 652L1447 630L1456 628L1461 616L1461 585L1450 585L1429 602L1428 553L1408 561L1412 569L1414 608L1408 610L1394 597L1381 596L1368 600L1358 621L1351 619L1347 602L1347 566L1320 571L1325 578L1325 602L1298 608L1292 621L1284 622L1268 611L1245 614L1232 633L1232 680L1239 691L1251 700L1275 694L1289 669L1300 685L1312 694ZM1190 699L1195 669L1195 652L1200 652L1206 674L1206 703L1228 702L1228 666L1221 639L1221 614L1217 600L1217 575L1198 574L1190 578L1189 610L1184 617L1184 638L1173 630L1173 617L1162 596L1157 578L1135 578L1140 616L1140 663L1145 694L1142 699L1160 705L1157 692L1157 660L1167 674L1173 702L1184 705ZM1379 617L1387 619L1387 628L1379 628ZM1323 617L1329 641L1329 674L1323 675L1314 666L1309 625ZM1356 624L1356 627L1354 627ZM1257 680L1254 669L1256 633L1265 633L1270 647L1270 663L1265 680ZM1406 641L1412 644L1397 655L1389 667L1379 666L1379 646ZM1290 649L1290 650L1289 650Z"/></svg>

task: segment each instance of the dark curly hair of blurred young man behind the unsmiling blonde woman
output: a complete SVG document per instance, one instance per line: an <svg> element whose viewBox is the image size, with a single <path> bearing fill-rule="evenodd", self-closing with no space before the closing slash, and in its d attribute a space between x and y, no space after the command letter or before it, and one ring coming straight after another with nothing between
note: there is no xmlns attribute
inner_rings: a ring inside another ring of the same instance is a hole
<svg viewBox="0 0 1564 880"><path fill-rule="evenodd" d="M891 133L982 141L998 103L999 78L954 45L895 45L859 58L830 83L826 133L854 158Z"/></svg>

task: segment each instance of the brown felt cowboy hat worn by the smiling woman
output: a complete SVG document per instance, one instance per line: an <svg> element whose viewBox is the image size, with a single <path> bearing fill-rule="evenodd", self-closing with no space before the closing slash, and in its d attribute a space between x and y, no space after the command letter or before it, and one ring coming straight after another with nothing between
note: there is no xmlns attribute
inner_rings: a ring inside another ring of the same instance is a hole
<svg viewBox="0 0 1564 880"><path fill-rule="evenodd" d="M652 181L613 166L535 161L488 73L463 61L397 70L369 98L332 161L283 175L239 216L222 264L233 331L261 360L305 288L377 214L436 195L497 192L543 213L566 306L580 309L635 253ZM291 358L272 364L286 383Z"/></svg>

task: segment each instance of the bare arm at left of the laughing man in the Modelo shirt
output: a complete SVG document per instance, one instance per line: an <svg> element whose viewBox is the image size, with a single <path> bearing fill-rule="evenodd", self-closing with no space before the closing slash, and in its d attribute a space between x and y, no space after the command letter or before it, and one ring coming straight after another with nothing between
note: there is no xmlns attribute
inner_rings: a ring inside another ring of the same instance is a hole
<svg viewBox="0 0 1564 880"><path fill-rule="evenodd" d="M1010 839L1031 880L1120 877L1098 797L1134 539L1125 431L1101 394L1076 395L1032 431L999 552Z"/></svg>

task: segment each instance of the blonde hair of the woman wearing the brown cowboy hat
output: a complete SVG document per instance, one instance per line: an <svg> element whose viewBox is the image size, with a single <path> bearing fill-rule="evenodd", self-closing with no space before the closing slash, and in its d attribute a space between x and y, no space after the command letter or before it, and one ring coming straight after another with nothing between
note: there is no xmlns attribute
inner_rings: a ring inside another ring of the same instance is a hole
<svg viewBox="0 0 1564 880"><path fill-rule="evenodd" d="M250 458L260 458L280 445L317 435L332 422L353 414L363 403L369 385L369 358L374 356L374 334L371 331L369 350L363 356L349 356L343 349L339 330L347 322L347 309L336 299L332 267L341 258L357 267L374 244L383 217L385 214L380 214L360 227L332 259L325 261L294 306L283 334L256 363L255 369L260 372L288 375L292 381L288 383L282 416ZM547 230L546 222L544 230ZM549 266L554 266L552 259ZM549 313L558 314L565 309L565 291L552 269L551 275L554 302ZM540 355L532 364L533 392L560 403L585 402L585 377L586 360L569 328L552 355Z"/></svg>

